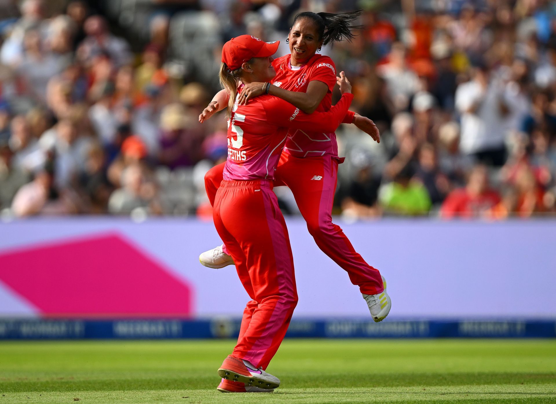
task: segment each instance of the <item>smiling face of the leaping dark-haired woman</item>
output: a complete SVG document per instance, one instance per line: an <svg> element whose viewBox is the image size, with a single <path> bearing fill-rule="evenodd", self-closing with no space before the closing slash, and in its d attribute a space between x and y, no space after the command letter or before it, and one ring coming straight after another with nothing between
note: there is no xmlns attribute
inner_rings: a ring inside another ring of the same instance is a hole
<svg viewBox="0 0 556 404"><path fill-rule="evenodd" d="M299 66L307 62L322 46L316 24L309 18L297 20L290 29L288 39L290 40L292 66Z"/></svg>

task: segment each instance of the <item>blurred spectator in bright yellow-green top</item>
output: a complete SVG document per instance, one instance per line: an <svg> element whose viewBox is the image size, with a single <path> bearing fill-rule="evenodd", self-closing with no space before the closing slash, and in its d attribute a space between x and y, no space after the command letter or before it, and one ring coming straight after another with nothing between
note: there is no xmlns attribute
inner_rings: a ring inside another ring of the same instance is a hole
<svg viewBox="0 0 556 404"><path fill-rule="evenodd" d="M419 181L411 180L410 166L405 166L394 177L394 181L382 185L379 202L386 213L414 216L428 213L431 201L426 188Z"/></svg>

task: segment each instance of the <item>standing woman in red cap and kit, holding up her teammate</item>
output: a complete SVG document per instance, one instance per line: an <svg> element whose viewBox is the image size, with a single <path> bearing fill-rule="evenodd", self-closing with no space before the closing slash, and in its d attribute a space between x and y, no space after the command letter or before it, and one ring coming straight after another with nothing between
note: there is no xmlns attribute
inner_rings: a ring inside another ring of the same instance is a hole
<svg viewBox="0 0 556 404"><path fill-rule="evenodd" d="M271 391L280 385L265 369L289 326L297 291L284 216L272 191L274 171L289 129L333 132L353 99L343 72L338 78L342 98L328 112L307 115L268 95L276 75L271 56L278 45L242 35L222 48L220 81L232 101L228 157L213 216L251 298L234 351L218 371L222 377L218 389L224 392ZM265 95L239 105L239 86L251 82L266 82Z"/></svg>

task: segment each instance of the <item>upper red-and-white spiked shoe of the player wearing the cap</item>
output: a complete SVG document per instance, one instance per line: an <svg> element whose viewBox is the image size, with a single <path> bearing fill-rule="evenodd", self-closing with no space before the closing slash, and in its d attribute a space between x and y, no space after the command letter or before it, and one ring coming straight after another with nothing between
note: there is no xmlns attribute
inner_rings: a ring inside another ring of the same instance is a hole
<svg viewBox="0 0 556 404"><path fill-rule="evenodd" d="M272 390L280 386L280 379L265 372L262 368L256 368L249 361L228 356L224 359L218 374L225 380L245 383L247 387L260 387Z"/></svg>

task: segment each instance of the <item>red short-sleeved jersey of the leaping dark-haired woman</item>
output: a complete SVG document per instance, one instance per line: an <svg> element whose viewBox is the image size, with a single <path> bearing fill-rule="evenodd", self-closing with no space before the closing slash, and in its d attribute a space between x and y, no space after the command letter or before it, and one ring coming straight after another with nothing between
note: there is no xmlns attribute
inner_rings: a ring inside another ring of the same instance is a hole
<svg viewBox="0 0 556 404"><path fill-rule="evenodd" d="M289 91L306 92L310 81L318 80L328 86L328 92L317 107L317 112L326 112L332 105L332 90L336 85L336 66L331 58L316 54L301 68L290 65L291 55L275 59L272 62L276 77L272 84ZM337 157L338 144L334 131L320 131L294 128L287 134L284 152L296 157L315 157L332 155Z"/></svg>

